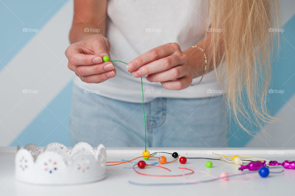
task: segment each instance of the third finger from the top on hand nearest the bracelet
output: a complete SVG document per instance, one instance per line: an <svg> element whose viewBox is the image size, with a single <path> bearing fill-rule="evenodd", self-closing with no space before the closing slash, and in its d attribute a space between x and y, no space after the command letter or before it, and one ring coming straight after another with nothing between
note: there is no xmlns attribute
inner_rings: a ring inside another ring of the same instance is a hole
<svg viewBox="0 0 295 196"><path fill-rule="evenodd" d="M169 69L166 71L148 75L147 81L163 82L163 81L175 80L177 78L184 77L188 73L189 71L186 69L186 67L181 65L181 66L173 67L172 69Z"/></svg>

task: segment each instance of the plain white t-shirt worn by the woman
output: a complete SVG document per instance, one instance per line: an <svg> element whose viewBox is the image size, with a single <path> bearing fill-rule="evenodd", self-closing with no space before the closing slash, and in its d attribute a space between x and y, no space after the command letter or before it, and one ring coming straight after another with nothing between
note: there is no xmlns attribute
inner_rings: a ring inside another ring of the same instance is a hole
<svg viewBox="0 0 295 196"><path fill-rule="evenodd" d="M130 62L157 46L176 42L181 50L198 43L210 24L207 0L109 0L106 37L111 43L110 59ZM208 22L208 23L207 23ZM75 77L74 84L86 92L128 102L142 102L141 81L124 63L113 62L117 75L100 84L87 84ZM156 97L200 98L220 95L214 71L201 84L175 91L143 77L144 101ZM193 84L200 77L193 79Z"/></svg>

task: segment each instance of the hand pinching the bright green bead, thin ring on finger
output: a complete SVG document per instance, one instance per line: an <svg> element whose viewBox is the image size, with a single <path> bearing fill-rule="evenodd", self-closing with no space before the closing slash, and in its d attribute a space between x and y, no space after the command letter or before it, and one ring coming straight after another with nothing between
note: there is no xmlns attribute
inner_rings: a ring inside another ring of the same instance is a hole
<svg viewBox="0 0 295 196"><path fill-rule="evenodd" d="M110 43L100 34L85 37L71 44L65 51L69 59L68 68L81 75L86 83L100 83L116 76L112 62L103 62L103 56L109 56Z"/></svg>

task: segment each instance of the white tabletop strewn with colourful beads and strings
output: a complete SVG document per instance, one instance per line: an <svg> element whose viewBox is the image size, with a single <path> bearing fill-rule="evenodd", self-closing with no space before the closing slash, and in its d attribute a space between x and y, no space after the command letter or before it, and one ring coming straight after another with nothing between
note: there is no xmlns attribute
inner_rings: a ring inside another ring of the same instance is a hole
<svg viewBox="0 0 295 196"><path fill-rule="evenodd" d="M131 160L137 156L141 156L144 149L139 148L121 148L107 149L107 161L120 161L121 159ZM211 152L222 153L223 155L245 155L263 158L267 160L295 160L295 149L245 149L245 148L196 148L196 149L160 149L150 148L152 152L178 152L180 155L187 157L210 157L219 158L212 155ZM15 147L0 148L0 195L281 195L294 194L295 171L285 169L280 174L270 174L267 178L262 178L258 173L236 176L231 179L247 179L245 181L221 181L217 180L210 183L201 184L184 184L188 182L183 176L181 177L150 177L139 175L133 169L124 169L124 167L132 167L134 164L121 164L117 166L109 166L107 178L89 184L76 186L38 186L19 182L14 179L14 155ZM167 161L173 160L171 155L162 154L167 157ZM139 159L142 160L142 159ZM138 161L138 160L137 160ZM155 161L150 159L149 161ZM194 167L210 174L219 176L222 172L237 172L239 166L221 160L211 160L212 168L206 168L206 159L188 159L186 164L180 164L178 161L161 166L171 169L171 172L162 168L150 167L140 169L141 172L148 174L182 174L182 170L178 167ZM270 168L270 171L281 171L283 168L276 166ZM189 180L206 180L212 179L208 175L195 171L192 175L187 175ZM129 183L129 181L137 183L181 183L174 186L138 186Z"/></svg>

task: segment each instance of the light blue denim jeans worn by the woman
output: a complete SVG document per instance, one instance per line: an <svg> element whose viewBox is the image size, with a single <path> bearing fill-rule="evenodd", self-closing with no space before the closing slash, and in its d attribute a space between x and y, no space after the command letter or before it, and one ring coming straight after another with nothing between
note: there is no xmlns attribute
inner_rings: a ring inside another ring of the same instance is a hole
<svg viewBox="0 0 295 196"><path fill-rule="evenodd" d="M118 95L120 96L120 95ZM227 147L228 123L222 96L156 98L144 103L148 147ZM142 103L85 93L73 86L72 145L144 147Z"/></svg>

